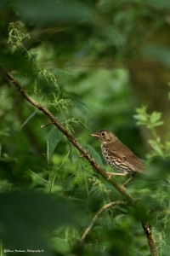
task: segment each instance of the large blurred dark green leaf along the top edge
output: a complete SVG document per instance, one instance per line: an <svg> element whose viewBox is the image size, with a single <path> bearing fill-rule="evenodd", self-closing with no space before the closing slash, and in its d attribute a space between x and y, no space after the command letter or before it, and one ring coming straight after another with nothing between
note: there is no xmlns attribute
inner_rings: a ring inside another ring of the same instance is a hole
<svg viewBox="0 0 170 256"><path fill-rule="evenodd" d="M89 5L76 0L51 0L50 4L46 0L29 0L25 1L25 4L21 0L16 0L13 6L24 20L31 20L41 25L53 24L59 20L67 20L67 22L89 21L94 15L94 10Z"/></svg>

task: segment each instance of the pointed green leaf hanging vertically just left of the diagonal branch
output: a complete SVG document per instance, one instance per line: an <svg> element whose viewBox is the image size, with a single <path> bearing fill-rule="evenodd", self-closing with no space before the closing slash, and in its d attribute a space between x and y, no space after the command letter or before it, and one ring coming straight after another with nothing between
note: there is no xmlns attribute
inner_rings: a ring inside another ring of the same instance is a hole
<svg viewBox="0 0 170 256"><path fill-rule="evenodd" d="M48 140L47 140L47 157L48 157L48 164L52 160L52 156L54 154L54 149L57 147L57 144L60 142L61 138L63 137L63 134L59 129L57 129L55 126L49 131L48 134Z"/></svg>

